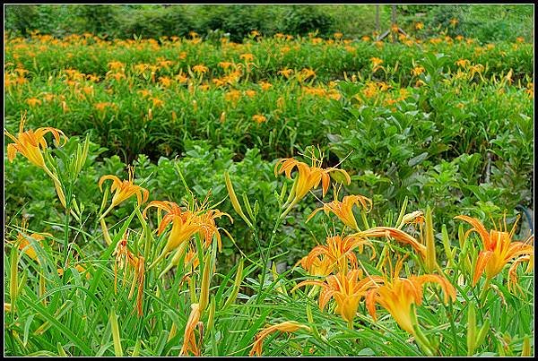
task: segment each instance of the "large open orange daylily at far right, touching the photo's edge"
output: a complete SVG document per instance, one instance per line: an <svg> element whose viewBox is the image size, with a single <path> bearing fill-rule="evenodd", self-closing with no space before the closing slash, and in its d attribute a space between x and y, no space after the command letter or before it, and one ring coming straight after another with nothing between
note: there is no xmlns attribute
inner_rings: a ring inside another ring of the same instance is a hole
<svg viewBox="0 0 538 361"><path fill-rule="evenodd" d="M530 242L534 240L534 235L529 236L525 242L513 242L512 236L516 231L516 225L509 233L494 229L488 232L478 219L463 215L456 216L455 219L462 219L473 226L465 233L464 239L473 231L477 232L482 238L483 250L478 254L478 260L474 268L473 286L476 285L482 273L485 272L486 279L490 280L497 276L512 260L515 260L512 264L513 267L516 267L515 265L520 262L532 262L531 256L534 255L534 246L530 245ZM511 268L511 270L513 277L515 268Z"/></svg>

